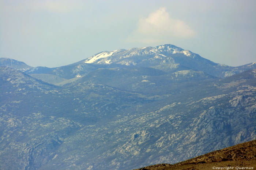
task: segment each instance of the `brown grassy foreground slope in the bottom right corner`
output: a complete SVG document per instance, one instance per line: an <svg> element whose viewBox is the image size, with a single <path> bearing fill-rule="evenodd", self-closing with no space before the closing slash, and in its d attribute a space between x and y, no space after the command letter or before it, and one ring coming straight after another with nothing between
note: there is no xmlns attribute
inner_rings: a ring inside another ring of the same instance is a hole
<svg viewBox="0 0 256 170"><path fill-rule="evenodd" d="M157 164L137 170L256 169L256 140L210 152L174 165Z"/></svg>

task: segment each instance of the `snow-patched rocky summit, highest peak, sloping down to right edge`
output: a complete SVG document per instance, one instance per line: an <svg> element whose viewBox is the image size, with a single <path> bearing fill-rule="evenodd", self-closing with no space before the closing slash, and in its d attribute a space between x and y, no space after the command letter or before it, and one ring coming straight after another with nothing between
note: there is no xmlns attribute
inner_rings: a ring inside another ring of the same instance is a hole
<svg viewBox="0 0 256 170"><path fill-rule="evenodd" d="M84 60L93 64L122 64L127 66L152 67L165 72L181 70L203 71L216 77L225 77L255 69L251 63L241 67L230 67L217 64L202 58L189 50L183 50L172 44L157 47L131 48L129 50L104 51Z"/></svg>

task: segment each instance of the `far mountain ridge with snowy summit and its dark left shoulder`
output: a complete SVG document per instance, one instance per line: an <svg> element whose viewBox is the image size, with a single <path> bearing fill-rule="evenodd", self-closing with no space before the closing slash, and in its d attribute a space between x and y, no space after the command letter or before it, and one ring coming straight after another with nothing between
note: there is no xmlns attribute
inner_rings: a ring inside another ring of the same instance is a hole
<svg viewBox="0 0 256 170"><path fill-rule="evenodd" d="M207 75L223 78L246 70L256 69L256 62L244 66L230 67L211 62L189 50L183 50L172 44L165 44L157 47L104 51L67 66L56 68L35 67L27 70L26 74L52 74L58 76L58 79L72 79L97 71L99 68L133 69L140 67L161 70L166 74L184 70L201 71ZM45 78L43 79L47 82ZM52 80L49 80L50 82Z"/></svg>

